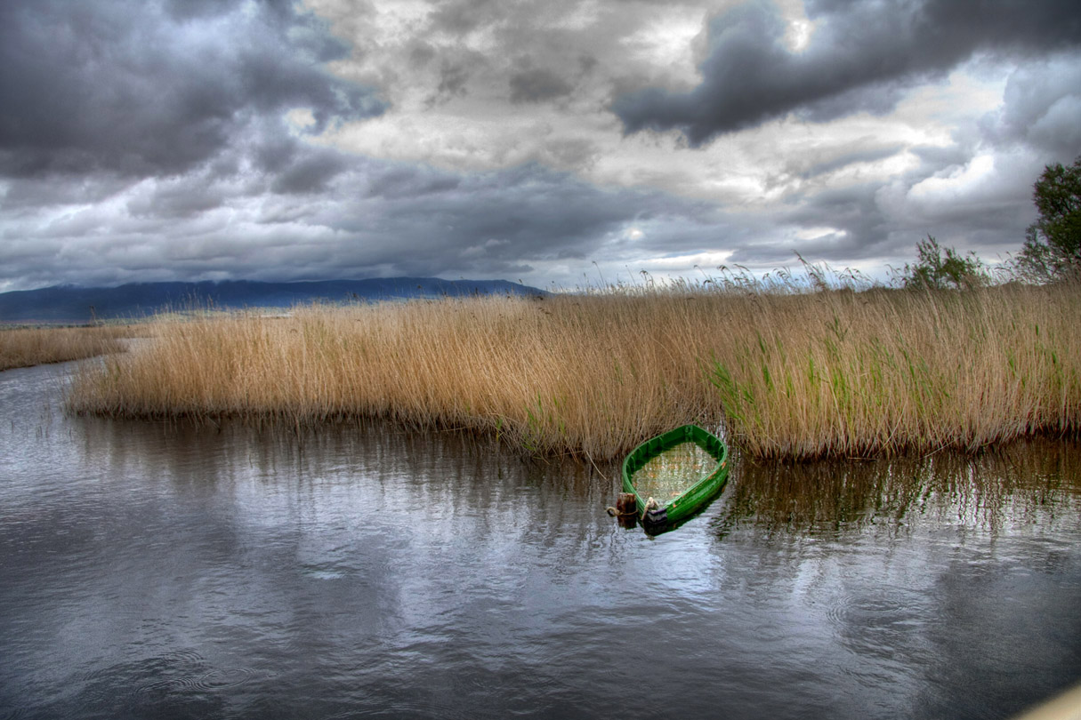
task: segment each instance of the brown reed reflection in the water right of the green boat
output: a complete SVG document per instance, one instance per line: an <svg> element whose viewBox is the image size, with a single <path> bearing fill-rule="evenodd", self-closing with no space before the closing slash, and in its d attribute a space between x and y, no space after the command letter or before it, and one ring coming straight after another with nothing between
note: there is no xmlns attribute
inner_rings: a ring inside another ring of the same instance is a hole
<svg viewBox="0 0 1081 720"><path fill-rule="evenodd" d="M1033 439L977 456L737 463L722 533L831 531L921 519L997 530L1032 522L1081 529L1081 445Z"/></svg>

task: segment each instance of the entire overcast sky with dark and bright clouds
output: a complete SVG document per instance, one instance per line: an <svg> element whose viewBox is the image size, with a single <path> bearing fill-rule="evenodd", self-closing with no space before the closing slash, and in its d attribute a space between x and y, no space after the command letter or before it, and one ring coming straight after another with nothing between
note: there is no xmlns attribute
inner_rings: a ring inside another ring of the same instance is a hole
<svg viewBox="0 0 1081 720"><path fill-rule="evenodd" d="M0 0L0 291L995 261L1078 155L1077 0Z"/></svg>

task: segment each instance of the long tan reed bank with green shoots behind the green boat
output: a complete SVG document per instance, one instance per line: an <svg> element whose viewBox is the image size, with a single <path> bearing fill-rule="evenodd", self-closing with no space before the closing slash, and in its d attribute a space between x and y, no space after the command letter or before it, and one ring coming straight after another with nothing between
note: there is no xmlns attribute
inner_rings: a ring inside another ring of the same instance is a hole
<svg viewBox="0 0 1081 720"><path fill-rule="evenodd" d="M381 416L613 458L688 421L756 457L975 449L1081 418L1081 288L686 285L159 322L68 404L290 424Z"/></svg>

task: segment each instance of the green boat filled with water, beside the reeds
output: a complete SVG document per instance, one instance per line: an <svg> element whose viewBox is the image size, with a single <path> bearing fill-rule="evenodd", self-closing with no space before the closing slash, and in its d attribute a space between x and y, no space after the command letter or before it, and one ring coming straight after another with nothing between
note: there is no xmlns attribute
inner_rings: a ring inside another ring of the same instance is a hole
<svg viewBox="0 0 1081 720"><path fill-rule="evenodd" d="M690 517L721 491L728 478L728 446L697 425L657 435L623 461L623 489L635 493L646 528Z"/></svg>

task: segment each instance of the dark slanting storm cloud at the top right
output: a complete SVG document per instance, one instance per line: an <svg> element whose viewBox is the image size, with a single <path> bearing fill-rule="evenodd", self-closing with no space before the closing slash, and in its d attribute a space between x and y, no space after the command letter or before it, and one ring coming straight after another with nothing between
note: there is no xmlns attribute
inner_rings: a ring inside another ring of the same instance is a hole
<svg viewBox="0 0 1081 720"><path fill-rule="evenodd" d="M827 121L890 111L910 86L976 54L1037 56L1081 47L1076 0L806 3L817 26L792 52L775 5L744 3L709 26L703 82L689 93L646 87L615 98L625 132L679 130L693 146L797 113Z"/></svg>

